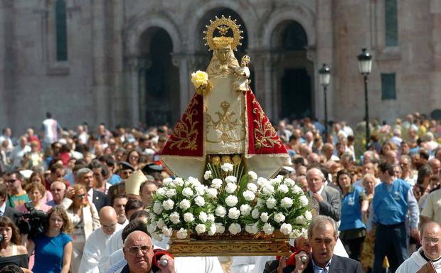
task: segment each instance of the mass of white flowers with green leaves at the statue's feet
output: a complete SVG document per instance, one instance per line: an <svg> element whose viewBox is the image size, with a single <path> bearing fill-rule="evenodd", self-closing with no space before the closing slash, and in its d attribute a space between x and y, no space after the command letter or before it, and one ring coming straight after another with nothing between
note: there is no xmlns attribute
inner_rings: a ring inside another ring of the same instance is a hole
<svg viewBox="0 0 441 273"><path fill-rule="evenodd" d="M249 171L240 175L232 164L224 163L216 172L204 173L204 186L197 178L168 178L156 191L149 207L149 232L156 240L193 235L271 235L280 230L297 237L309 224L312 214L308 198L290 178L267 180ZM226 232L228 230L228 232Z"/></svg>

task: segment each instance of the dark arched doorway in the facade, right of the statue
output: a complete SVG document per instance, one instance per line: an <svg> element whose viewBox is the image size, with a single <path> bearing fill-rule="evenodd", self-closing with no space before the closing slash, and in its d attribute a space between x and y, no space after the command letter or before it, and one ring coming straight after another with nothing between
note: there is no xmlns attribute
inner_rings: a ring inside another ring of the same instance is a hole
<svg viewBox="0 0 441 273"><path fill-rule="evenodd" d="M278 69L279 117L311 117L313 63L307 59L307 33L296 21L284 21L272 34L275 53L280 55Z"/></svg>

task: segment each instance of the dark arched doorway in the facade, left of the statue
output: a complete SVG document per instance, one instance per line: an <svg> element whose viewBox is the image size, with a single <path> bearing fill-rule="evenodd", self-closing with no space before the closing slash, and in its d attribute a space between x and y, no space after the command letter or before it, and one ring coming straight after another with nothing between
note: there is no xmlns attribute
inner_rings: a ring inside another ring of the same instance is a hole
<svg viewBox="0 0 441 273"><path fill-rule="evenodd" d="M179 119L179 70L172 52L171 37L163 28L148 28L139 38L139 117L148 126Z"/></svg>

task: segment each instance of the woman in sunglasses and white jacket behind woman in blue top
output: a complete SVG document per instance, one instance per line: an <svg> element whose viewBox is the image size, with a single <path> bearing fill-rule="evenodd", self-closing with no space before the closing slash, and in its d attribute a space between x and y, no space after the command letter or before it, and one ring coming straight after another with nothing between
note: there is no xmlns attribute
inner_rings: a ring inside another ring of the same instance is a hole
<svg viewBox="0 0 441 273"><path fill-rule="evenodd" d="M68 198L72 203L67 209L70 221L73 223L73 252L72 272L78 272L83 248L87 238L93 230L100 228L100 218L93 203L87 199L87 191L82 184L75 184L68 191Z"/></svg>

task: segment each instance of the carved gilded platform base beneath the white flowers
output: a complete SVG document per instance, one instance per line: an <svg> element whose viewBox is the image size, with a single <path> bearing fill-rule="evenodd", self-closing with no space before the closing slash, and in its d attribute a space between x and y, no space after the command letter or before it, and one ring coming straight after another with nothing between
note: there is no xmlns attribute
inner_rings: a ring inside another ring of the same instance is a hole
<svg viewBox="0 0 441 273"><path fill-rule="evenodd" d="M198 256L288 256L289 237L274 235L188 236L171 238L169 251L176 257Z"/></svg>

